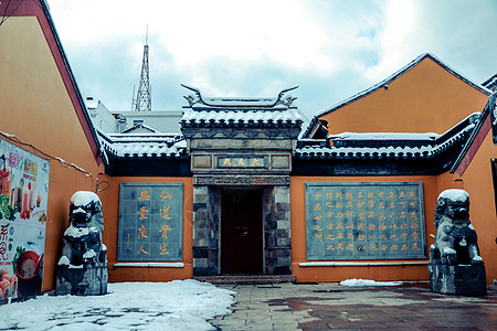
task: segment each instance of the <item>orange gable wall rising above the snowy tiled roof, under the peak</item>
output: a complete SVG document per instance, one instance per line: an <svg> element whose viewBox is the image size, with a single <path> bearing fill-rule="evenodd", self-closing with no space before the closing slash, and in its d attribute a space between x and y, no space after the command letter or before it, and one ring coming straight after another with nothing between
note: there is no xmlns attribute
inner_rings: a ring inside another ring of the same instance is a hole
<svg viewBox="0 0 497 331"><path fill-rule="evenodd" d="M424 58L388 89L380 88L319 118L328 120L330 134L442 134L482 111L487 100L484 93Z"/></svg>

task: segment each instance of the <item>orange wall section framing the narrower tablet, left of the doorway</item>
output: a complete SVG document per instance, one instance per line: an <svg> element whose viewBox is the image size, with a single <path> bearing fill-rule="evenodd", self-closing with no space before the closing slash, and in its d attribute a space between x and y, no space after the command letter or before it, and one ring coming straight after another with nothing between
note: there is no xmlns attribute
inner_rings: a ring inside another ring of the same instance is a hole
<svg viewBox="0 0 497 331"><path fill-rule="evenodd" d="M188 279L193 276L193 184L191 178L157 177L108 177L101 180L109 182L109 188L99 192L104 202L104 243L107 246L109 281L169 281ZM142 268L115 267L117 263L117 234L119 220L119 184L126 182L141 183L183 183L183 268Z"/></svg>

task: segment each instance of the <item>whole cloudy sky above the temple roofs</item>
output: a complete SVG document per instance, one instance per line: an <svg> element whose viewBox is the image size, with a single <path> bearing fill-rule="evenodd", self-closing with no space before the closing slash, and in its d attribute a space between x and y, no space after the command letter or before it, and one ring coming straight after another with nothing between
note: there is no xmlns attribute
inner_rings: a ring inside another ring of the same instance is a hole
<svg viewBox="0 0 497 331"><path fill-rule="evenodd" d="M130 110L148 24L152 110L189 94L292 92L307 116L430 52L483 83L497 73L494 0L49 0L84 96Z"/></svg>

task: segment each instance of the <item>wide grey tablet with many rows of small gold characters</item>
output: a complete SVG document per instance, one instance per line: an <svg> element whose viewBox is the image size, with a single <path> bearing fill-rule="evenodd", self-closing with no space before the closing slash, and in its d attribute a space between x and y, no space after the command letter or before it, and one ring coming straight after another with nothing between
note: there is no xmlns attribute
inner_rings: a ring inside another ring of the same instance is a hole
<svg viewBox="0 0 497 331"><path fill-rule="evenodd" d="M426 258L422 182L306 183L308 260Z"/></svg>

